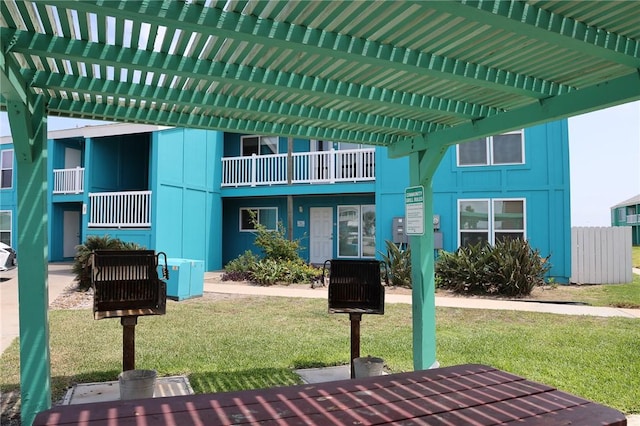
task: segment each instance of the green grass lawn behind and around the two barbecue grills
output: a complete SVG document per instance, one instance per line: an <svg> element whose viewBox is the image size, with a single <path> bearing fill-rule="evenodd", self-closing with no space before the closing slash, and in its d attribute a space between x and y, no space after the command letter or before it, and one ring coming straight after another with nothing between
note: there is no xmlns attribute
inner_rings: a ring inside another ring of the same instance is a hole
<svg viewBox="0 0 640 426"><path fill-rule="evenodd" d="M142 317L136 329L136 367L186 374L197 393L294 384L294 368L349 361L349 317L327 314L324 300L169 302L167 315ZM74 383L116 379L118 320L52 311L50 332L54 400ZM640 413L640 320L438 308L437 336L442 366L488 364ZM391 372L412 370L411 306L365 315L361 352L384 358ZM18 360L14 342L0 358L3 393L18 387Z"/></svg>

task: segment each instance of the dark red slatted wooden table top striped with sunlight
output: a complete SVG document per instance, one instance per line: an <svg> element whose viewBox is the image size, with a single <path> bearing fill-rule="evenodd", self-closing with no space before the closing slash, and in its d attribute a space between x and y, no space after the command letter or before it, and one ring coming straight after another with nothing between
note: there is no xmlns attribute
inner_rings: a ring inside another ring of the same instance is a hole
<svg viewBox="0 0 640 426"><path fill-rule="evenodd" d="M57 406L34 425L626 425L612 408L485 365Z"/></svg>

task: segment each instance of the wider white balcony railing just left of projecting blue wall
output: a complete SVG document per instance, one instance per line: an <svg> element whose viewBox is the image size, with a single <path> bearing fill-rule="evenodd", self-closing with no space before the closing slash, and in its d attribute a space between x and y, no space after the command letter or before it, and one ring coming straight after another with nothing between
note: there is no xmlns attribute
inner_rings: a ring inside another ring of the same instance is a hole
<svg viewBox="0 0 640 426"><path fill-rule="evenodd" d="M151 191L89 194L90 228L148 228L151 226Z"/></svg>

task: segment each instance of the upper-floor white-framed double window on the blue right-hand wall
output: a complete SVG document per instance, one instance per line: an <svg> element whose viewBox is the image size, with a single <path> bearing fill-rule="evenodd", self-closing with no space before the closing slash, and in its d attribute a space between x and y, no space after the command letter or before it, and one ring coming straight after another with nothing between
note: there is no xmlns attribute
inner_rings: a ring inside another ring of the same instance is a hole
<svg viewBox="0 0 640 426"><path fill-rule="evenodd" d="M498 164L524 164L522 131L458 144L458 166Z"/></svg>

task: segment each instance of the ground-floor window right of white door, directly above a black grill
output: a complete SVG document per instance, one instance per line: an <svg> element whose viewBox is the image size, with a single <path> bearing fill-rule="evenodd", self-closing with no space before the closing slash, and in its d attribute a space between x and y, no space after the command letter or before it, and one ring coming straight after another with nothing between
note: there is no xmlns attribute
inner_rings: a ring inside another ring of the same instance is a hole
<svg viewBox="0 0 640 426"><path fill-rule="evenodd" d="M338 206L338 257L375 257L376 207Z"/></svg>

